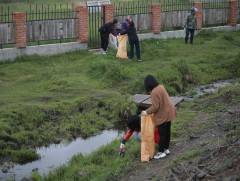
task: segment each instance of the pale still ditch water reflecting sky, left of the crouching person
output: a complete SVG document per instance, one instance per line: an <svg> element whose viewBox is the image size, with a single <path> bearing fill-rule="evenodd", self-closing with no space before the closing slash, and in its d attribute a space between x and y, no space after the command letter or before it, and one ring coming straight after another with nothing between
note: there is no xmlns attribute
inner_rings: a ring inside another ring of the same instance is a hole
<svg viewBox="0 0 240 181"><path fill-rule="evenodd" d="M24 177L29 177L34 169L38 169L41 175L47 174L50 170L66 164L74 155L78 153L82 153L83 155L91 153L118 137L119 131L110 130L85 140L78 138L69 144L61 143L37 149L37 153L41 155L40 160L25 165L14 165L13 168L8 170L8 173L0 171L0 181L7 179L21 180Z"/></svg>

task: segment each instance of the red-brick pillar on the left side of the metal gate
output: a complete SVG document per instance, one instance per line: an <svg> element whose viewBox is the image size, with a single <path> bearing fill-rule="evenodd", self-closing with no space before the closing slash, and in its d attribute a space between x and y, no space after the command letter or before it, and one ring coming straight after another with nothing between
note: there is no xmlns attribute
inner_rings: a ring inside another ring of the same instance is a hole
<svg viewBox="0 0 240 181"><path fill-rule="evenodd" d="M88 8L87 6L78 5L77 10L77 33L78 42L88 42Z"/></svg>

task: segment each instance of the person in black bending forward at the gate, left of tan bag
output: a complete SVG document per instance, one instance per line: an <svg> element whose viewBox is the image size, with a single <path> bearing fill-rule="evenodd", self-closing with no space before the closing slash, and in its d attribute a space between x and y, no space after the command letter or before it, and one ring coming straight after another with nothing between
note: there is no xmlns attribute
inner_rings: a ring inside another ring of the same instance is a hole
<svg viewBox="0 0 240 181"><path fill-rule="evenodd" d="M108 38L109 34L114 34L115 25L117 24L117 20L114 19L112 22L106 23L99 28L99 33L101 37L101 48L102 53L106 54L107 47L108 47Z"/></svg>

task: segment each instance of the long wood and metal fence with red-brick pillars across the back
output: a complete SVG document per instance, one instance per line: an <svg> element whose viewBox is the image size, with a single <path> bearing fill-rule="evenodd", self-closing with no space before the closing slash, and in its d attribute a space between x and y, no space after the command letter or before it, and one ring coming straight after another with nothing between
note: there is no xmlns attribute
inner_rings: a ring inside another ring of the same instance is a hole
<svg viewBox="0 0 240 181"><path fill-rule="evenodd" d="M93 41L99 43L96 39L99 38L98 29L101 24L112 21L113 18L122 22L126 16L130 16L135 22L138 33L159 34L168 30L179 30L182 29L192 6L199 9L198 29L219 25L236 26L240 22L240 0L187 3L171 0L153 3L151 0L140 0L100 7L46 4L29 5L25 12L15 12L9 6L1 5L0 49L24 49L42 42L69 41L88 43L89 46ZM97 22L94 19L96 15L100 17Z"/></svg>

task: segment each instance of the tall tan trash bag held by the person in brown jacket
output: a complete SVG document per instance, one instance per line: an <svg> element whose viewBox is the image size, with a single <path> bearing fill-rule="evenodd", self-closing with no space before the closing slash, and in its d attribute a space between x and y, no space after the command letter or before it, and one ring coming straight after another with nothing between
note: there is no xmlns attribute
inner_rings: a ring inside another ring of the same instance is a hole
<svg viewBox="0 0 240 181"><path fill-rule="evenodd" d="M141 162L148 162L155 152L155 122L153 115L141 115Z"/></svg>

